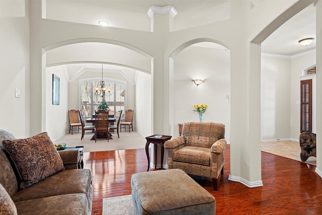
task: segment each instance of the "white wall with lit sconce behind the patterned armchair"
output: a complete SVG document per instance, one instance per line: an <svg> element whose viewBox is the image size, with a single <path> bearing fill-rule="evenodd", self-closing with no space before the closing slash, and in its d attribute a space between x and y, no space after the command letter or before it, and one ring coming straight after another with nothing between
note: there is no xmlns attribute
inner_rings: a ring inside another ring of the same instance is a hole
<svg viewBox="0 0 322 215"><path fill-rule="evenodd" d="M224 49L189 46L175 58L174 66L174 136L179 123L199 121L196 104L207 104L204 122L225 124L225 138L230 136L230 58ZM205 82L195 85L193 79Z"/></svg>

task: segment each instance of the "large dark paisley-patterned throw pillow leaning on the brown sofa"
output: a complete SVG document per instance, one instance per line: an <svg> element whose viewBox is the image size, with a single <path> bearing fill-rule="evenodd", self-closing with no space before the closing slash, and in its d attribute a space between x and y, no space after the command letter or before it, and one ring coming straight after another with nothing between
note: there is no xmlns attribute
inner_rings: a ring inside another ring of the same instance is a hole
<svg viewBox="0 0 322 215"><path fill-rule="evenodd" d="M47 132L26 139L5 139L3 146L18 169L21 189L65 169Z"/></svg>

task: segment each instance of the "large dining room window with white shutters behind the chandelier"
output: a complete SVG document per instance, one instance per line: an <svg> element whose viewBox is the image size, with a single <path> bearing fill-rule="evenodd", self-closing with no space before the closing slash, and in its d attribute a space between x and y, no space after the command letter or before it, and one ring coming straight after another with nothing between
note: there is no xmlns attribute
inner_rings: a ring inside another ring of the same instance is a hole
<svg viewBox="0 0 322 215"><path fill-rule="evenodd" d="M79 81L79 92L83 116L85 118L91 117L98 110L103 98L95 94L94 87L100 87L99 79L86 79ZM125 87L126 83L118 80L104 79L105 87L111 89L111 93L105 94L105 101L109 105L109 114L114 114L118 117L120 110L125 112ZM116 114L115 114L116 113Z"/></svg>

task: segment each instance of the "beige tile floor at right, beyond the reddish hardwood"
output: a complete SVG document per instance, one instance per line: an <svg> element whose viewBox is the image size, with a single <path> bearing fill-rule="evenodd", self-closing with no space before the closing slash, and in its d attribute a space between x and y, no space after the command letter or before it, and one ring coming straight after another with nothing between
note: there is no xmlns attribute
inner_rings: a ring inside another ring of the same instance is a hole
<svg viewBox="0 0 322 215"><path fill-rule="evenodd" d="M262 142L262 151L302 162L300 157L301 148L298 141L279 140ZM309 157L304 163L316 166L316 158Z"/></svg>

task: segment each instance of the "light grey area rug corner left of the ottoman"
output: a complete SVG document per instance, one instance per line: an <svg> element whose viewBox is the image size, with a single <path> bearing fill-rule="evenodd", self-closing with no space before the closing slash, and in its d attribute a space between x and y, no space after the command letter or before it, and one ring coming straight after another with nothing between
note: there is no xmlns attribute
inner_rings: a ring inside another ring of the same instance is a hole
<svg viewBox="0 0 322 215"><path fill-rule="evenodd" d="M103 198L103 215L133 215L131 195Z"/></svg>

